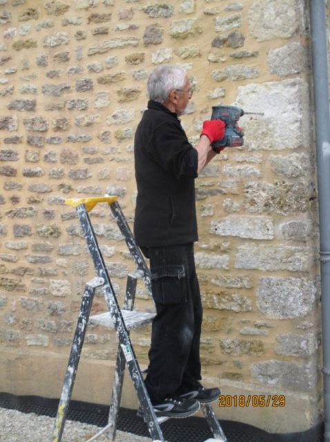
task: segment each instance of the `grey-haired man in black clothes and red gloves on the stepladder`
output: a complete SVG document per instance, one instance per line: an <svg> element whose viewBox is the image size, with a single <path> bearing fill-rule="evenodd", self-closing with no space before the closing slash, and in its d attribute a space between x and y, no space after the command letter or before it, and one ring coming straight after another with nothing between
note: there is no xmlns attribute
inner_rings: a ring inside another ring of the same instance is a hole
<svg viewBox="0 0 330 442"><path fill-rule="evenodd" d="M202 303L195 273L194 180L219 153L224 122L206 121L195 147L179 116L193 90L186 72L160 66L148 78L148 109L135 133L135 239L150 259L153 320L146 388L158 416L184 417L214 401L218 388L200 384Z"/></svg>

